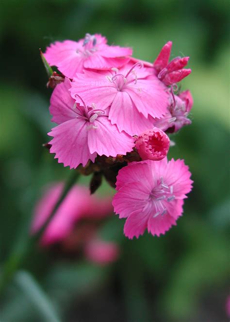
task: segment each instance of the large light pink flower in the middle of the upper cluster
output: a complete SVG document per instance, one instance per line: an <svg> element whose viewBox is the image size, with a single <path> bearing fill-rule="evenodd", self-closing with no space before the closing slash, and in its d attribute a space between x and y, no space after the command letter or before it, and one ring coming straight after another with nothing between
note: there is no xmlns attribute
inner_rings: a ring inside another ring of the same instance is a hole
<svg viewBox="0 0 230 322"><path fill-rule="evenodd" d="M102 110L110 106L109 119L119 131L139 134L152 127L153 118L166 113L168 94L149 68L138 67L142 67L142 63L128 64L119 70L77 74L71 95L80 102L75 96L79 94L86 104L93 102Z"/></svg>

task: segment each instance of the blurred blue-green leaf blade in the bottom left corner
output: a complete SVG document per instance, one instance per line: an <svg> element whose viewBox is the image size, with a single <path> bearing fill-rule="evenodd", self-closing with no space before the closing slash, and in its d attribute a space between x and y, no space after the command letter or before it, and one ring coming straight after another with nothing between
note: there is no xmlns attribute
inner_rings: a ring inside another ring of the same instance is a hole
<svg viewBox="0 0 230 322"><path fill-rule="evenodd" d="M37 308L44 321L61 321L46 293L40 288L29 272L18 271L15 275L15 281L24 295L28 298L28 301Z"/></svg>

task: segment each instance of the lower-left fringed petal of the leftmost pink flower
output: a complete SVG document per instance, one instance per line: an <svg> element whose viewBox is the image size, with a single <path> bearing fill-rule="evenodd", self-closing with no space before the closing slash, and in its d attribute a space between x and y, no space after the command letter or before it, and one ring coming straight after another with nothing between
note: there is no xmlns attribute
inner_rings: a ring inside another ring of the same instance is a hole
<svg viewBox="0 0 230 322"><path fill-rule="evenodd" d="M89 159L94 162L97 153L89 152L87 123L84 120L66 121L54 127L48 135L53 136L49 142L52 145L50 153L56 153L55 158L64 167L77 168L80 163L85 166Z"/></svg>

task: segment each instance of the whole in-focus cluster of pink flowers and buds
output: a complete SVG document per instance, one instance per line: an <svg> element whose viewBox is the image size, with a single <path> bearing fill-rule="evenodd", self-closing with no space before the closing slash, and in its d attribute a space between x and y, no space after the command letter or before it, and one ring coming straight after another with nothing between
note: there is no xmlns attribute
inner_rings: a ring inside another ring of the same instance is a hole
<svg viewBox="0 0 230 322"><path fill-rule="evenodd" d="M86 34L78 42L51 44L44 53L60 72L48 83L55 87L50 114L57 124L48 133L50 153L70 169L94 173L91 186L99 186L102 175L116 186L115 212L127 218L130 238L146 228L164 234L191 190L183 161L166 158L170 133L191 123L193 105L189 90L177 86L191 72L184 68L189 57L169 62L171 47L167 42L148 63L132 57L131 48Z"/></svg>

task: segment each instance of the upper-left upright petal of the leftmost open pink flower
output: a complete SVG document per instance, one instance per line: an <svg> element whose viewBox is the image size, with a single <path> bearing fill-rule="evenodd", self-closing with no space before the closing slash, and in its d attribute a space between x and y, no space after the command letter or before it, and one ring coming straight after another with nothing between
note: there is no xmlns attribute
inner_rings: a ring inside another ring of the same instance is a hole
<svg viewBox="0 0 230 322"><path fill-rule="evenodd" d="M64 83L58 84L51 95L49 112L53 116L52 122L61 124L69 119L76 118L76 111L73 109L75 101L69 93L71 82L65 79Z"/></svg>

